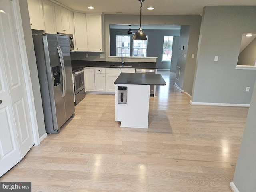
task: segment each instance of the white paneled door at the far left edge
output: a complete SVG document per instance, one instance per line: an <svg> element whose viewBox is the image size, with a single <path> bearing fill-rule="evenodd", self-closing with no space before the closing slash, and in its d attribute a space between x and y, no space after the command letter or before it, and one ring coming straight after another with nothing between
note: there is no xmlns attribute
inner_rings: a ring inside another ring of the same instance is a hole
<svg viewBox="0 0 256 192"><path fill-rule="evenodd" d="M13 1L0 1L0 176L34 144Z"/></svg>

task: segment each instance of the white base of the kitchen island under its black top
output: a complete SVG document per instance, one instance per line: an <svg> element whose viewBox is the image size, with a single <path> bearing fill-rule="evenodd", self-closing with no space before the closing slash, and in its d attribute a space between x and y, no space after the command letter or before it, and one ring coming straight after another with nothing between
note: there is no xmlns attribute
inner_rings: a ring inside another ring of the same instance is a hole
<svg viewBox="0 0 256 192"><path fill-rule="evenodd" d="M118 86L127 87L126 104L118 104ZM149 95L150 85L116 84L116 121L121 127L148 128Z"/></svg>

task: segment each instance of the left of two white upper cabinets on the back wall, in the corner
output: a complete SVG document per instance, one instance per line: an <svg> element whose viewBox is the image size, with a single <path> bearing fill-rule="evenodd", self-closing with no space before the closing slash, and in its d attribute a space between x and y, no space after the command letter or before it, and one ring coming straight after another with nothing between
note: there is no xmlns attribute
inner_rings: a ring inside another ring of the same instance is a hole
<svg viewBox="0 0 256 192"><path fill-rule="evenodd" d="M76 51L88 51L85 14L74 12L74 28Z"/></svg>

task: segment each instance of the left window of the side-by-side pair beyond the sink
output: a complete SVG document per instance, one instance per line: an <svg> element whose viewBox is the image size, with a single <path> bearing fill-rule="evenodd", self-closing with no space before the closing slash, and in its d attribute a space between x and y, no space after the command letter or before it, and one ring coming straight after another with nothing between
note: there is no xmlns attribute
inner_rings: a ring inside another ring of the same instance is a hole
<svg viewBox="0 0 256 192"><path fill-rule="evenodd" d="M130 35L117 35L116 36L116 56L130 56Z"/></svg>

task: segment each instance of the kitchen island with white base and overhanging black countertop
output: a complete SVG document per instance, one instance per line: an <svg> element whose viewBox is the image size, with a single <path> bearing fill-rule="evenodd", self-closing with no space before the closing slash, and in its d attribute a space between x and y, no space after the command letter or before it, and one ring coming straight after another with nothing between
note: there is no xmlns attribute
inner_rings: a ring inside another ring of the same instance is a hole
<svg viewBox="0 0 256 192"><path fill-rule="evenodd" d="M116 121L121 127L148 128L150 85L166 85L160 74L121 73L116 81Z"/></svg>

